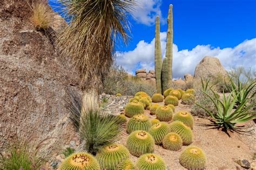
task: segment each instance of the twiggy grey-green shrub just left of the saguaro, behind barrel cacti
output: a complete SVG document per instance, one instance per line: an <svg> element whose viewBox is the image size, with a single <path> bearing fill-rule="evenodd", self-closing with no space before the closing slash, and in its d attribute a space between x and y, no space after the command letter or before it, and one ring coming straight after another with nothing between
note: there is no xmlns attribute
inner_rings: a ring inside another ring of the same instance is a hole
<svg viewBox="0 0 256 170"><path fill-rule="evenodd" d="M103 91L107 94L122 93L126 96L134 96L138 91L143 91L152 96L156 93L156 87L138 77L128 77L122 67L113 66L104 78Z"/></svg>

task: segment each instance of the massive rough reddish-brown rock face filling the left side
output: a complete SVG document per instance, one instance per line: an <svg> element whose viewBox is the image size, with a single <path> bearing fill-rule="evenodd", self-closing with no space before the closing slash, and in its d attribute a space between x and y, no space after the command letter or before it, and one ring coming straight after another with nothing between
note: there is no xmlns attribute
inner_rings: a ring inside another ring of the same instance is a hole
<svg viewBox="0 0 256 170"><path fill-rule="evenodd" d="M0 147L35 133L64 144L73 137L65 108L78 78L68 58L30 22L23 0L0 2Z"/></svg>

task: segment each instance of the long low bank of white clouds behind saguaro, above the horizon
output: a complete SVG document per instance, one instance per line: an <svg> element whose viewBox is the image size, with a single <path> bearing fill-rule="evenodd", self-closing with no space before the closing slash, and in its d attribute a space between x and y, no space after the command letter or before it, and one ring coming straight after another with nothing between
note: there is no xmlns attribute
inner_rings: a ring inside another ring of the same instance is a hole
<svg viewBox="0 0 256 170"><path fill-rule="evenodd" d="M160 33L161 51L165 56L166 32ZM197 45L192 50L178 51L173 44L173 78L183 77L185 73L194 74L196 65L204 56L220 59L225 69L233 66L253 67L256 69L256 38L245 40L235 47L220 49L211 45ZM129 73L138 68L154 69L154 39L150 43L141 40L132 51L117 52L117 64L122 65Z"/></svg>

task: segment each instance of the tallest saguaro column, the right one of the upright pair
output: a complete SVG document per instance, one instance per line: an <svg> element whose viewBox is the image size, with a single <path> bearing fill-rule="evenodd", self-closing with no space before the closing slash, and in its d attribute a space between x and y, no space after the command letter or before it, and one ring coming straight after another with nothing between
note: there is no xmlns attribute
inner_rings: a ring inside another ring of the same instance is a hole
<svg viewBox="0 0 256 170"><path fill-rule="evenodd" d="M168 29L167 29L167 42L166 42L166 58L168 60L168 84L172 83L172 44L173 44L173 17L172 17L172 4L169 6L168 12Z"/></svg>

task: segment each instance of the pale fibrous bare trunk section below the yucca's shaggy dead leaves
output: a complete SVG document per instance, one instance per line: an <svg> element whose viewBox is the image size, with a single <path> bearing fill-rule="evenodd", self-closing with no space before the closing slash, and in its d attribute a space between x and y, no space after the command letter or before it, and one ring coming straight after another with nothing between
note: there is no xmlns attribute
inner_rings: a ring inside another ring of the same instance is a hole
<svg viewBox="0 0 256 170"><path fill-rule="evenodd" d="M99 109L99 96L96 89L86 89L83 91L82 97L82 112L81 117L89 112Z"/></svg>

